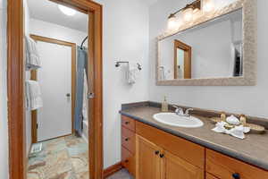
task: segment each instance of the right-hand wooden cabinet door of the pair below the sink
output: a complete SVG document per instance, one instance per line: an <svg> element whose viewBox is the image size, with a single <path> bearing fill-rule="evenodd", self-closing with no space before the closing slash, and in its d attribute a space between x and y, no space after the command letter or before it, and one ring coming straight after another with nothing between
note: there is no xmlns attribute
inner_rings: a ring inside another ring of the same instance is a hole
<svg viewBox="0 0 268 179"><path fill-rule="evenodd" d="M197 166L189 164L187 161L164 151L162 179L204 179L205 171Z"/></svg>

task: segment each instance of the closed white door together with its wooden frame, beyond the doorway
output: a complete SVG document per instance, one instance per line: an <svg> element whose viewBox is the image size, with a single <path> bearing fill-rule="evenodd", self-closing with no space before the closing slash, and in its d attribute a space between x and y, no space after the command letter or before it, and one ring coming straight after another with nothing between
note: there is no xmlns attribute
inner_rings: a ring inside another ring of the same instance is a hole
<svg viewBox="0 0 268 179"><path fill-rule="evenodd" d="M32 143L71 135L74 133L76 44L33 34L30 38L36 41L42 62L40 70L31 71L30 79L40 83L44 103L39 110L31 111Z"/></svg>

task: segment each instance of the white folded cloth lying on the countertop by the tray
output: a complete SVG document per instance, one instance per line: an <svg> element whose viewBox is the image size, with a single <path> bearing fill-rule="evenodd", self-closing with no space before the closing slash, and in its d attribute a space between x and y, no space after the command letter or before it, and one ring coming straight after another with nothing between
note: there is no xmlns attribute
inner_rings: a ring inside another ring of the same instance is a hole
<svg viewBox="0 0 268 179"><path fill-rule="evenodd" d="M249 127L244 127L243 125L236 126L230 130L225 129L224 125L226 122L220 122L216 124L216 127L212 129L214 132L226 133L233 137L237 137L241 140L245 139L245 134L250 131Z"/></svg>

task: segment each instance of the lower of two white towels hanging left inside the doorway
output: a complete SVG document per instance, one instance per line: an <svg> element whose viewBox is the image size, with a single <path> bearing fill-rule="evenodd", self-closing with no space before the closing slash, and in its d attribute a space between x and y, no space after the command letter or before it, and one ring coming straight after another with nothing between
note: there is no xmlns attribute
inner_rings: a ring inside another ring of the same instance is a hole
<svg viewBox="0 0 268 179"><path fill-rule="evenodd" d="M43 107L41 90L38 81L26 81L27 107L29 110L35 110Z"/></svg>

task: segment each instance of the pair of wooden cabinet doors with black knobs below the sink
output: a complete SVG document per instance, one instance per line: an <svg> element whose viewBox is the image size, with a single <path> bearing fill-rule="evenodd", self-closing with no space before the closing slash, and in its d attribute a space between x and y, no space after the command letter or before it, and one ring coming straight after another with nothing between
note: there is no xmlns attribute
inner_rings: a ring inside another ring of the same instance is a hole
<svg viewBox="0 0 268 179"><path fill-rule="evenodd" d="M204 172L137 135L136 178L204 179Z"/></svg>

